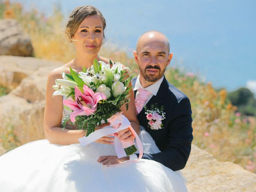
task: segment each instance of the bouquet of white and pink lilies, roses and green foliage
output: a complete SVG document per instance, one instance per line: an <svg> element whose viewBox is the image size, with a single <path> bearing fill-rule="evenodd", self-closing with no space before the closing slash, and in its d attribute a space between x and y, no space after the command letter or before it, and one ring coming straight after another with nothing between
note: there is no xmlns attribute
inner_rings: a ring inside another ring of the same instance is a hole
<svg viewBox="0 0 256 192"><path fill-rule="evenodd" d="M70 68L70 74L63 73L63 79L56 79L53 86L53 96L66 96L63 100L64 108L71 114L64 118L62 127L71 120L77 129L85 130L86 136L94 132L96 126L108 123L120 107L126 104L132 87L128 86L132 77L128 77L122 64L106 64L102 61L93 62L87 70L84 68L78 74ZM136 152L134 145L124 148L127 155Z"/></svg>

